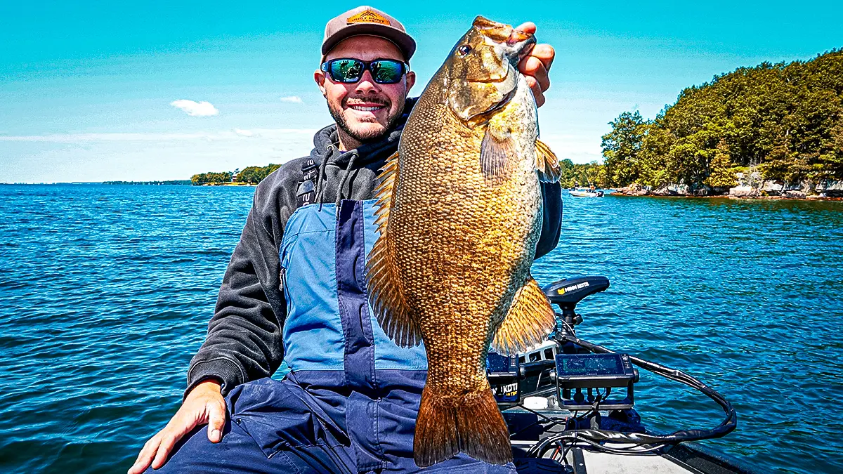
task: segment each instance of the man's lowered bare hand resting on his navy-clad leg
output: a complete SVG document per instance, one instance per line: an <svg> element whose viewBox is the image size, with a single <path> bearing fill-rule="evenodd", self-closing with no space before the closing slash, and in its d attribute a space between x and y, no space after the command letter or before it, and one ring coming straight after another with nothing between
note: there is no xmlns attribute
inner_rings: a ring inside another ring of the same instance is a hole
<svg viewBox="0 0 843 474"><path fill-rule="evenodd" d="M143 445L141 454L137 455L128 474L140 474L150 463L153 469L164 466L179 439L204 423L208 423L208 439L212 443L219 443L223 439L225 425L225 400L220 393L220 384L215 380L206 380L187 394L185 402L167 426Z"/></svg>

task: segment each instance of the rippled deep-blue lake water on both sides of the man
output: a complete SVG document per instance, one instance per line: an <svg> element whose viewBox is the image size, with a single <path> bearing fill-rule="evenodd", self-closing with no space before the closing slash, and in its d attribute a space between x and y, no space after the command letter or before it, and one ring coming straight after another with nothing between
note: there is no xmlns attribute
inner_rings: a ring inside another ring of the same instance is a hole
<svg viewBox="0 0 843 474"><path fill-rule="evenodd" d="M0 471L125 472L180 403L253 188L0 186ZM578 334L733 401L703 444L760 472L840 472L843 202L565 197L540 283L602 274ZM704 396L643 373L652 428Z"/></svg>

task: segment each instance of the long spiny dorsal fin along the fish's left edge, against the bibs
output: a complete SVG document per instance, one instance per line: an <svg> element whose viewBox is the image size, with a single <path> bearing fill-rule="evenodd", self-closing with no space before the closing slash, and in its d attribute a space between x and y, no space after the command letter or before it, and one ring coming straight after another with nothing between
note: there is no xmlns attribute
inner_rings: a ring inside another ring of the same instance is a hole
<svg viewBox="0 0 843 474"><path fill-rule="evenodd" d="M378 200L374 213L380 236L366 262L369 301L375 318L390 339L401 347L417 346L421 342L421 330L404 298L402 280L395 266L395 240L389 235L389 212L398 180L398 152L386 160L379 179L374 191Z"/></svg>

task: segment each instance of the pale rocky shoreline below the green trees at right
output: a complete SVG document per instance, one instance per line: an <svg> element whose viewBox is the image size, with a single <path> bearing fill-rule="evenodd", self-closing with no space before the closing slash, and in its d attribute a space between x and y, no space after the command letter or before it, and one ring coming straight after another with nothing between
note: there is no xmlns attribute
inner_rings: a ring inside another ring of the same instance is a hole
<svg viewBox="0 0 843 474"><path fill-rule="evenodd" d="M728 197L732 199L805 199L843 201L843 181L826 181L816 185L807 181L786 185L781 181L756 181L734 187L668 185L653 189L638 183L622 187L612 196L652 197Z"/></svg>

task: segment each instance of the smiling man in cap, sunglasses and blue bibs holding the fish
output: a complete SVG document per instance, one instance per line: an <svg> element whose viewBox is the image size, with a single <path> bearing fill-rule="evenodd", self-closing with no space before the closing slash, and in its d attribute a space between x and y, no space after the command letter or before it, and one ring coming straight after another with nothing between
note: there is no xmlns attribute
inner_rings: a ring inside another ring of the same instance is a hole
<svg viewBox="0 0 843 474"><path fill-rule="evenodd" d="M397 149L415 102L406 99L416 82L408 66L415 49L397 20L374 8L327 24L314 80L336 124L316 133L309 157L284 164L255 190L184 402L130 474L418 469L412 436L424 349L389 341L368 311L360 277L377 237L378 170ZM539 45L519 64L538 105L553 57ZM561 222L559 186L543 191L537 257L556 246ZM282 359L291 372L269 379ZM439 470L513 466L459 455L426 471Z"/></svg>

